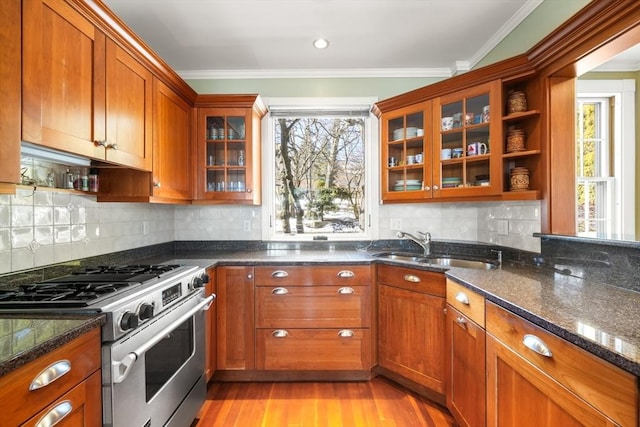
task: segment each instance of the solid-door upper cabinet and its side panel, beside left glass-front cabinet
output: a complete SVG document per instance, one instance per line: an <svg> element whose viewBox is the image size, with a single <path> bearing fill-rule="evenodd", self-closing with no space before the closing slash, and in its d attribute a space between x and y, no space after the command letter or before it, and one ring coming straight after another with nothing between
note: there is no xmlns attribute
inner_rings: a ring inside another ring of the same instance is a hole
<svg viewBox="0 0 640 427"><path fill-rule="evenodd" d="M98 201L190 203L194 178L192 121L189 103L154 77L152 171L103 168Z"/></svg>

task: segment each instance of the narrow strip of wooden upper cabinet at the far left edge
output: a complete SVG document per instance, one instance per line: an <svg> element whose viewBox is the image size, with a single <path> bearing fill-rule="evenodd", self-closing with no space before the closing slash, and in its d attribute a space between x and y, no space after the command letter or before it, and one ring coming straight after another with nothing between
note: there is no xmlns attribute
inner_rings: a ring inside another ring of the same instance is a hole
<svg viewBox="0 0 640 427"><path fill-rule="evenodd" d="M7 0L0 8L0 194L15 193L20 182L21 6Z"/></svg>

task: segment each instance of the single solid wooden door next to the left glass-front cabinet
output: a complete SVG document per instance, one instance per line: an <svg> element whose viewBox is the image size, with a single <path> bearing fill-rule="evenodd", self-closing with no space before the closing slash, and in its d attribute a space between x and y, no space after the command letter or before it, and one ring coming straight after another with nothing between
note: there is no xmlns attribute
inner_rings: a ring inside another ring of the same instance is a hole
<svg viewBox="0 0 640 427"><path fill-rule="evenodd" d="M191 162L191 107L166 84L154 79L154 197L191 199Z"/></svg>

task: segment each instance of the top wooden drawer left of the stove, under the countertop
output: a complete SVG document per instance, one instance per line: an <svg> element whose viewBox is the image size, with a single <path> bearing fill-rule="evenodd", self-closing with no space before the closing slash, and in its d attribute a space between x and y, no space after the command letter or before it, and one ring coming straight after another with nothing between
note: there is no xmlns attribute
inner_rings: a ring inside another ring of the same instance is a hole
<svg viewBox="0 0 640 427"><path fill-rule="evenodd" d="M30 391L32 381L52 365L62 362L70 370L57 380ZM41 411L58 397L100 369L100 329L96 328L50 353L0 377L0 401L3 420L7 425L19 425Z"/></svg>

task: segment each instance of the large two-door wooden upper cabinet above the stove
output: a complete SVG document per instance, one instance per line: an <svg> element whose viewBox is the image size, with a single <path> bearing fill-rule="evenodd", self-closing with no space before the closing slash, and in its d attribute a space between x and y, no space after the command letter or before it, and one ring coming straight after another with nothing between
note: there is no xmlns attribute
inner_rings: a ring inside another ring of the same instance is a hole
<svg viewBox="0 0 640 427"><path fill-rule="evenodd" d="M151 73L63 0L22 23L22 139L151 170Z"/></svg>

